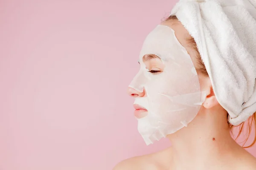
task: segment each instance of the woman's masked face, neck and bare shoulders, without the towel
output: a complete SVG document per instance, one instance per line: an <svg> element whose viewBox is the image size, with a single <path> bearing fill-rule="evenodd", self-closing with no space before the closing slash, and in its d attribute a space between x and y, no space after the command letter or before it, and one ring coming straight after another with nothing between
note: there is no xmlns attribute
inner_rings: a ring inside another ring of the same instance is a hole
<svg viewBox="0 0 256 170"><path fill-rule="evenodd" d="M164 31L166 34L162 34ZM172 32L175 37L169 37ZM178 43L182 47L179 47ZM153 48L155 50L152 50ZM256 48L255 44L254 48ZM165 49L166 51L170 49L170 52L164 53ZM200 99L196 95L198 92L196 82L186 81L192 79L188 76L191 70L189 62L183 62L186 57L178 61L180 57L185 56L183 50L186 50L195 67L200 91L204 92L200 94ZM168 60L164 57L165 54L177 54L177 56ZM201 59L198 44L175 15L171 15L149 34L143 44L139 63L140 71L128 87L128 94L135 100L148 99L144 102L144 106L140 105L143 102L135 102L134 113L139 121L138 129L147 144L160 139L162 134L170 140L172 147L157 153L126 159L117 164L114 170L256 170L256 158L237 144L230 135L233 124L229 121L229 112L218 102L212 85L214 80L209 77ZM180 69L173 69L175 65ZM219 67L221 68L222 65ZM217 88L215 86L215 89ZM155 94L168 98L169 102L157 98ZM190 105L191 101L188 99L199 102L195 104L199 107ZM186 106L182 103L184 100ZM174 116L162 114L170 109ZM195 111L195 116L187 119ZM176 112L178 114L175 115ZM152 119L147 118L154 114L156 116L151 116ZM253 113L246 118L250 128L255 116L256 113ZM162 124L158 124L161 121ZM240 126L247 126L244 121L240 122ZM158 126L160 130L156 132L156 128L151 125ZM149 132L148 129L154 130Z"/></svg>

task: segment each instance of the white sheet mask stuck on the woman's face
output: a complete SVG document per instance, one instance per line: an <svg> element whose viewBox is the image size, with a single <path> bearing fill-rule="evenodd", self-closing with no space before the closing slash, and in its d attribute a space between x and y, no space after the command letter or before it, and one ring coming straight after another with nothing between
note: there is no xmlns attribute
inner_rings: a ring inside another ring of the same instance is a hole
<svg viewBox="0 0 256 170"><path fill-rule="evenodd" d="M160 57L162 73L148 72L145 54ZM145 88L146 97L136 97L134 104L148 110L147 116L137 119L138 130L148 145L187 126L201 108L206 92L200 89L192 59L168 26L158 25L148 34L139 61L140 71L129 87L139 92Z"/></svg>

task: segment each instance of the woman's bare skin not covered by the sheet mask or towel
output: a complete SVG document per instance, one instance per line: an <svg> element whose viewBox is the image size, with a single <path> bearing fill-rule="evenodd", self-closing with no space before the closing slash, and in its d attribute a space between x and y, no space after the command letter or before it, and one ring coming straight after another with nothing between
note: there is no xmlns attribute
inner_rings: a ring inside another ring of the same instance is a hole
<svg viewBox="0 0 256 170"><path fill-rule="evenodd" d="M189 53L195 67L195 50L186 42L190 35L180 21L168 20L161 23L175 31L175 36ZM143 61L144 62L144 61ZM160 59L145 61L149 70L163 71ZM160 72L157 74L161 74ZM227 111L218 103L209 77L198 72L202 90L207 98L195 119L167 138L172 147L144 156L119 162L113 170L255 170L256 158L237 144L230 136ZM128 88L132 97L145 97ZM146 115L146 114L145 114Z"/></svg>

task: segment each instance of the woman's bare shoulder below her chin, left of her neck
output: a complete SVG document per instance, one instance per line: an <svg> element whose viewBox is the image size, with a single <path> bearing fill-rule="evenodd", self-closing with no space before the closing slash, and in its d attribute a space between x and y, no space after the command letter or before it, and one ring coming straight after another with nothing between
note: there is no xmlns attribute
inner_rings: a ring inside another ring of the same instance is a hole
<svg viewBox="0 0 256 170"><path fill-rule="evenodd" d="M136 156L130 159L125 159L113 168L113 170L161 170L168 166L165 161L166 151L161 150L156 153L151 153L143 156Z"/></svg>

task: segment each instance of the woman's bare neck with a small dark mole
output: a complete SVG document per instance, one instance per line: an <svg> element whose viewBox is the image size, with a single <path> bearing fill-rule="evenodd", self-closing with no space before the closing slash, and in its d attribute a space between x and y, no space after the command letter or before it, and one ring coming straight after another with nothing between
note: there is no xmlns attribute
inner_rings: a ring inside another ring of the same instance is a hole
<svg viewBox="0 0 256 170"><path fill-rule="evenodd" d="M187 127L167 137L172 142L172 169L209 170L241 149L230 136L227 113L221 108L202 107Z"/></svg>

